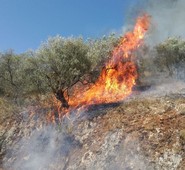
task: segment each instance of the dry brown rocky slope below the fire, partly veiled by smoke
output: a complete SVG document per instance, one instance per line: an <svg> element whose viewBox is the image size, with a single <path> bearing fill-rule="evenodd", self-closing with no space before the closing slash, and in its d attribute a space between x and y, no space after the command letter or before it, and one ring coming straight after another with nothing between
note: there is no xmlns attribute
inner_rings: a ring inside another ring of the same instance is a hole
<svg viewBox="0 0 185 170"><path fill-rule="evenodd" d="M18 117L0 126L1 170L185 169L185 93L134 95L59 125L46 123L40 108Z"/></svg>

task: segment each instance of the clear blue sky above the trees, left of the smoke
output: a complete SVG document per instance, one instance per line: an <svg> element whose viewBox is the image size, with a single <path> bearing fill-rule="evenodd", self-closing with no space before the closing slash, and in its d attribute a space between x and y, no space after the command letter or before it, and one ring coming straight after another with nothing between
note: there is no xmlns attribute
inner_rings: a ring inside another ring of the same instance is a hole
<svg viewBox="0 0 185 170"><path fill-rule="evenodd" d="M97 38L121 30L136 0L0 0L0 52L37 49L50 36Z"/></svg>

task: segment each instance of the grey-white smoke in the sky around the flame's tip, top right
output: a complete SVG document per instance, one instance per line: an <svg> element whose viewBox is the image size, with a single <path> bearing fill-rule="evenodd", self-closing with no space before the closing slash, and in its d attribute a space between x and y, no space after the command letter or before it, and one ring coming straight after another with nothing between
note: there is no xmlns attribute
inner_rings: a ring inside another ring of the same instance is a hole
<svg viewBox="0 0 185 170"><path fill-rule="evenodd" d="M139 15L147 13L151 16L151 26L146 38L150 45L155 46L168 37L185 38L184 9L184 0L138 0L128 9L122 32L131 29Z"/></svg>

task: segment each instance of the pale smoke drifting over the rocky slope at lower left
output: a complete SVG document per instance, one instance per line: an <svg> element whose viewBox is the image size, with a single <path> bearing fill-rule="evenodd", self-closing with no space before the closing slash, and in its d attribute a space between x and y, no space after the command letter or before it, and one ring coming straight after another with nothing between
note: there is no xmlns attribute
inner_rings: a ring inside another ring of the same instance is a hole
<svg viewBox="0 0 185 170"><path fill-rule="evenodd" d="M68 154L80 144L54 126L43 126L24 136L7 153L11 159L4 162L5 169L46 170L64 169Z"/></svg>

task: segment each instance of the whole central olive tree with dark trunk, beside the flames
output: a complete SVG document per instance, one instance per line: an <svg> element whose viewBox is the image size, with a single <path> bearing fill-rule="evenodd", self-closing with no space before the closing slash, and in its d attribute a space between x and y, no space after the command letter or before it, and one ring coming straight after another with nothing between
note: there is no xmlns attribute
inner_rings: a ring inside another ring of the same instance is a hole
<svg viewBox="0 0 185 170"><path fill-rule="evenodd" d="M82 38L49 38L37 50L36 73L62 107L68 108L65 92L91 70L88 45ZM39 80L38 80L39 81Z"/></svg>

